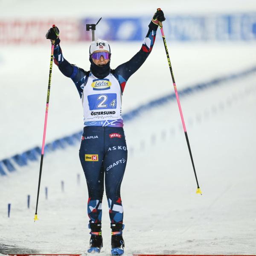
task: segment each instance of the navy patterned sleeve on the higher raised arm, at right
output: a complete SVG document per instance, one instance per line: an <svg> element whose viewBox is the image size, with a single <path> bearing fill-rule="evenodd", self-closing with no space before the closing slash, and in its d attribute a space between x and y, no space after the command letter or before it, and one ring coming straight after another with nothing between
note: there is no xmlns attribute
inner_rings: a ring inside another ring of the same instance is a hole
<svg viewBox="0 0 256 256"><path fill-rule="evenodd" d="M122 92L125 89L125 84L129 77L134 74L142 66L146 58L148 58L148 55L154 46L157 27L157 25L149 25L148 33L143 41L140 51L137 52L129 61L119 65L115 70L113 70L113 73L121 85Z"/></svg>

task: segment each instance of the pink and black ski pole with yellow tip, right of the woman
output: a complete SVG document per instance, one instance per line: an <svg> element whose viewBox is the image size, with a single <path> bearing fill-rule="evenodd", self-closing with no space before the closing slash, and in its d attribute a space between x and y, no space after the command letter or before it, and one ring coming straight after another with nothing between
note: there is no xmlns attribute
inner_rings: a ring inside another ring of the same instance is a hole
<svg viewBox="0 0 256 256"><path fill-rule="evenodd" d="M161 9L158 8L157 11L161 11ZM173 86L174 86L175 95L176 95L176 99L177 99L177 103L178 103L178 107L179 107L179 111L180 111L180 117L181 117L181 121L182 121L182 125L183 125L183 130L184 130L185 137L186 137L186 142L187 142L187 145L188 145L188 148L189 148L189 154L190 154L190 158L191 158L191 162L192 162L192 166L193 166L193 170L194 170L194 174L195 174L195 180L196 180L196 183L197 183L196 193L202 195L201 189L200 189L199 184L198 184L198 179L197 179L197 176L196 176L196 172L195 172L194 160L193 160L192 152L191 152L190 145L189 145L189 137L188 137L188 134L186 132L186 126L185 126L185 122L184 122L184 118L183 118L183 113L182 113L181 106L180 106L180 99L179 99L179 95L178 95L178 92L177 92L177 87L176 87L176 84L175 84L174 75L173 75L173 72L172 72L172 65L171 65L171 61L170 61L170 58L169 58L169 52L168 52L168 48L167 48L167 44L166 44L166 39L165 39L165 36L164 36L164 33L163 33L163 24L162 24L161 21L159 21L159 26L161 28L161 34L162 34L162 37L163 37L163 44L165 46L166 57L167 57L167 61L168 61L170 72L171 72L171 76L172 76L172 83L173 83Z"/></svg>

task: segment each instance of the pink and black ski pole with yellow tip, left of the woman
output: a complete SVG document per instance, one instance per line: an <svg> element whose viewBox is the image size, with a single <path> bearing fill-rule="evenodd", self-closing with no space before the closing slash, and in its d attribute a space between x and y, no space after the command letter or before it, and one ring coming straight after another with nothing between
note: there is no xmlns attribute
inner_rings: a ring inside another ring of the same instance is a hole
<svg viewBox="0 0 256 256"><path fill-rule="evenodd" d="M54 29L55 25L52 25L52 27ZM51 80L52 80L52 62L53 62L54 43L55 43L55 41L52 40L49 81L48 81L47 100L46 100L46 111L45 111L45 117L44 117L44 134L43 134L43 143L42 143L42 150L41 150L41 162L40 162L40 171L39 171L39 180L38 180L38 193L37 193L37 199L36 199L36 208L35 208L34 221L38 220L37 209L38 209L38 198L39 198L41 175L42 175L42 168L43 168L43 159L44 159L44 144L45 144L46 126L47 126L47 117L48 117L48 108L49 108L49 98L50 98L50 88L51 88Z"/></svg>

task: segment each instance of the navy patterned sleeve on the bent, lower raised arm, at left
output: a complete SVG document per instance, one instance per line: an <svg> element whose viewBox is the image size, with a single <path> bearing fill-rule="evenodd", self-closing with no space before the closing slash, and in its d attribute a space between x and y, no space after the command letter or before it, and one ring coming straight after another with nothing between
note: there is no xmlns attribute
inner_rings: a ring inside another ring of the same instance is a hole
<svg viewBox="0 0 256 256"><path fill-rule="evenodd" d="M76 85L76 89L79 92L81 98L84 88L84 81L87 79L86 72L77 67L76 65L70 64L62 54L61 47L59 45L59 40L55 42L53 60L54 63L58 66L59 70L64 76L67 76L72 79Z"/></svg>

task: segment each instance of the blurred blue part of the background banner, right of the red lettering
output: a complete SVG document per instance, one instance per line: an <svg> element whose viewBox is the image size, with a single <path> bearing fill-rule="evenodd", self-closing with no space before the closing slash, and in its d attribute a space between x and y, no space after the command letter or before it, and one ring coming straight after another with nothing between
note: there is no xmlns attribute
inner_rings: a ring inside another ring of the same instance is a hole
<svg viewBox="0 0 256 256"><path fill-rule="evenodd" d="M109 41L142 41L148 31L150 17L102 18L96 26L95 39ZM84 19L82 26L96 23ZM256 40L256 13L227 15L166 16L164 32L172 41L253 41ZM83 30L81 40L91 41L91 32Z"/></svg>

